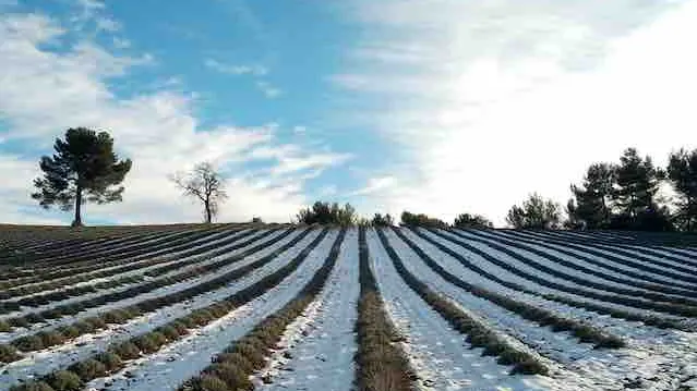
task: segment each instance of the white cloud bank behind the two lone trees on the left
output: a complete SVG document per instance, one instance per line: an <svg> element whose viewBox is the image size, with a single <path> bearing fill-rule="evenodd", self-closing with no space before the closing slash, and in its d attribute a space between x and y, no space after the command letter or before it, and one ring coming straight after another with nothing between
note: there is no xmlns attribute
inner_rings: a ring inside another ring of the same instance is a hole
<svg viewBox="0 0 697 391"><path fill-rule="evenodd" d="M267 221L288 221L304 204L305 182L346 160L340 154L283 144L276 139L277 126L273 124L202 129L193 114L191 94L168 89L167 85L119 99L109 82L128 76L131 68L152 59L117 57L91 41L61 52L43 45L60 40L64 33L57 21L43 15L0 15L0 119L8 124L3 137L31 146L32 152L38 149L50 154L53 139L70 126L110 131L118 154L133 159L134 166L124 183L123 203L88 205L87 222L200 220L200 207L181 198L167 175L202 160L211 160L230 174L231 197L221 210L223 220L262 216ZM244 162L256 159L254 150L266 150L267 169L249 175ZM48 221L60 216L32 217L23 212L40 213L28 197L32 179L39 175L36 161L38 156L19 160L0 155L0 176L11 179L3 183L1 220ZM61 218L63 222L71 219L69 215Z"/></svg>

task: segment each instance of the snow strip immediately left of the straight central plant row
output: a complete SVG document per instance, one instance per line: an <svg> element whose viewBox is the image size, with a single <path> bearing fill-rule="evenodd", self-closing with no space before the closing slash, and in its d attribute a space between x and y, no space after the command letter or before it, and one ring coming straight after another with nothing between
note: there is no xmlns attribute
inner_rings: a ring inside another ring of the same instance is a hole
<svg viewBox="0 0 697 391"><path fill-rule="evenodd" d="M279 345L286 349L257 376L269 376L272 383L257 381L257 389L350 391L359 291L358 231L351 229L324 290L284 334Z"/></svg>

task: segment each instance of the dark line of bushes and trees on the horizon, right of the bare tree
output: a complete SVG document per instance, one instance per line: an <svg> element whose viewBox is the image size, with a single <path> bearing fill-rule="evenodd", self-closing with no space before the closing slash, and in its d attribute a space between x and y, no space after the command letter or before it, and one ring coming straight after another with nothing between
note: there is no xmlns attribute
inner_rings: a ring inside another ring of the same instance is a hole
<svg viewBox="0 0 697 391"><path fill-rule="evenodd" d="M668 184L673 199L659 197ZM617 163L591 164L580 184L570 185L572 197L565 208L532 193L506 215L508 225L517 229L697 231L697 149L672 152L665 168L656 167L650 157L627 148ZM404 211L404 225L433 228L489 229L493 224L480 215L461 213L449 223L424 213ZM300 223L338 225L394 225L390 215L359 217L350 205L317 201L300 210Z"/></svg>

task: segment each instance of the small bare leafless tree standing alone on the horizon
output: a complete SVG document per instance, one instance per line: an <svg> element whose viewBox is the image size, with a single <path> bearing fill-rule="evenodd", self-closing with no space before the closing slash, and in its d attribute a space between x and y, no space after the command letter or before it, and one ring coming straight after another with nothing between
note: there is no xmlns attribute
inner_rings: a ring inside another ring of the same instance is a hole
<svg viewBox="0 0 697 391"><path fill-rule="evenodd" d="M177 173L171 181L185 196L196 197L203 204L205 221L209 223L218 215L220 203L227 199L225 180L209 162L201 162L187 173Z"/></svg>

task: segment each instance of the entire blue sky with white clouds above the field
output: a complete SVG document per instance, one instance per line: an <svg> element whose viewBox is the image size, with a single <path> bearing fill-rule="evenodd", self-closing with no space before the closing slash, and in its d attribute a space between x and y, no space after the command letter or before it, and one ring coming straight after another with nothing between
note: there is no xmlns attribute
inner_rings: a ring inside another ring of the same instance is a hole
<svg viewBox="0 0 697 391"><path fill-rule="evenodd" d="M627 147L697 147L697 1L0 0L0 221L69 127L133 160L87 224L194 222L169 178L209 161L220 221L324 199L498 227Z"/></svg>

